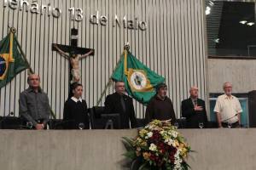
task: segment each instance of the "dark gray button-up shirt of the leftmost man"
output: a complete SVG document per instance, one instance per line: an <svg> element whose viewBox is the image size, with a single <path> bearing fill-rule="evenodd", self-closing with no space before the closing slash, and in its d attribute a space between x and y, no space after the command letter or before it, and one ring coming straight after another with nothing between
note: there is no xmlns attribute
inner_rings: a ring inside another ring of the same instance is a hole
<svg viewBox="0 0 256 170"><path fill-rule="evenodd" d="M41 88L36 93L32 88L26 88L20 94L20 116L35 127L37 120L43 120L44 125L49 122L49 99Z"/></svg>

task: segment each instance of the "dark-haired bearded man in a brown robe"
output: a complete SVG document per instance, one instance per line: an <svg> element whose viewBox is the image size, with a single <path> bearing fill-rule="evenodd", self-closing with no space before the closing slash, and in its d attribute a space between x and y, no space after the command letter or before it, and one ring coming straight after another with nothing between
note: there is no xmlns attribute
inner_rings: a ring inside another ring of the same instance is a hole
<svg viewBox="0 0 256 170"><path fill-rule="evenodd" d="M146 109L146 122L151 122L154 119L160 121L171 120L172 124L176 122L175 112L173 110L172 100L166 96L167 86L165 83L160 83L156 88L157 94L150 99Z"/></svg>

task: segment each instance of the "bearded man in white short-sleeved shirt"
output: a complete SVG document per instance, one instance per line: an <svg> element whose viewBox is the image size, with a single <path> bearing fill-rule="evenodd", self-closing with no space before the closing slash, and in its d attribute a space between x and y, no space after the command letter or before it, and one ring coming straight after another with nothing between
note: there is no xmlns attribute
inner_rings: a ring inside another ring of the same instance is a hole
<svg viewBox="0 0 256 170"><path fill-rule="evenodd" d="M241 105L239 100L233 96L232 84L224 82L224 94L218 96L214 112L217 115L218 127L240 127Z"/></svg>

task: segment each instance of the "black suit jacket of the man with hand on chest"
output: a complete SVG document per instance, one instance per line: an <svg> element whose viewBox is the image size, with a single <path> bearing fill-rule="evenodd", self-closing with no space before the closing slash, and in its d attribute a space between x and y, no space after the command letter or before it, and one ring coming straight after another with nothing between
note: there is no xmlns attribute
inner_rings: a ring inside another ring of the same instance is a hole
<svg viewBox="0 0 256 170"><path fill-rule="evenodd" d="M202 106L203 111L195 111L192 99L184 99L182 101L182 116L186 117L188 127L198 127L199 122L207 125L207 111L205 101L197 99L197 105Z"/></svg>

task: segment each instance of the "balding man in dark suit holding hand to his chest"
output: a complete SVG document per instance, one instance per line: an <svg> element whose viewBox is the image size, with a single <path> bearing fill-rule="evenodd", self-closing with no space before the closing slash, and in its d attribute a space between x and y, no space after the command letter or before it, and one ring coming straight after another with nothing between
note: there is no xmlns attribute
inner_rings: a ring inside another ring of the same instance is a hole
<svg viewBox="0 0 256 170"><path fill-rule="evenodd" d="M189 99L182 101L182 116L186 117L187 127L197 128L199 123L207 125L207 111L205 101L198 99L198 88L191 87Z"/></svg>

